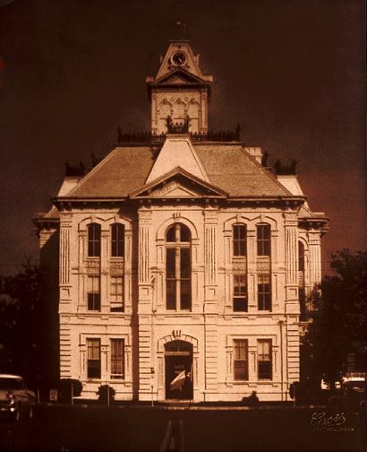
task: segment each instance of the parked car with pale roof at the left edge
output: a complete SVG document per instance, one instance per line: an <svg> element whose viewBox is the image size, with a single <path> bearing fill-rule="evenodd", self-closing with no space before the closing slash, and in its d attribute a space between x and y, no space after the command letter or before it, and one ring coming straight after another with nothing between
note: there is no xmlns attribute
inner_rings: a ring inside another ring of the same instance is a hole
<svg viewBox="0 0 367 452"><path fill-rule="evenodd" d="M0 414L13 421L32 418L36 395L19 375L0 374Z"/></svg>

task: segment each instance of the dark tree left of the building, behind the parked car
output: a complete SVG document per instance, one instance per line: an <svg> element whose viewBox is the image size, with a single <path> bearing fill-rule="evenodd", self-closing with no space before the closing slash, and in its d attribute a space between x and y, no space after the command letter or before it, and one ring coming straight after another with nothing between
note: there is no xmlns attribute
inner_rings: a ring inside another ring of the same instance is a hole
<svg viewBox="0 0 367 452"><path fill-rule="evenodd" d="M0 369L30 385L50 375L51 329L57 328L42 288L43 273L29 259L19 274L0 277Z"/></svg>

